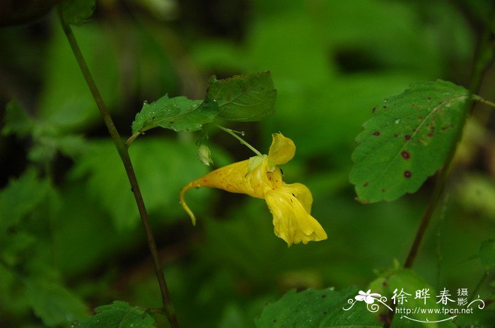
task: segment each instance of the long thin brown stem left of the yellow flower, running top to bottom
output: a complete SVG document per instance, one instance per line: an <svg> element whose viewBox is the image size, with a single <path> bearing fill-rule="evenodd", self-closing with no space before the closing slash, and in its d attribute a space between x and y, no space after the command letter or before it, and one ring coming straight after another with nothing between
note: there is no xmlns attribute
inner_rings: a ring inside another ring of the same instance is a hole
<svg viewBox="0 0 495 328"><path fill-rule="evenodd" d="M132 162L129 157L129 152L127 152L127 147L124 145L120 134L115 128L115 124L112 121L112 117L103 102L103 98L98 91L98 87L96 87L95 81L91 76L91 73L86 65L86 61L81 54L81 49L77 44L76 38L71 30L71 27L64 20L62 15L62 11L59 7L59 18L62 23L62 29L66 35L67 40L71 46L72 52L76 57L76 61L81 68L81 72L84 75L86 83L88 84L89 89L91 90L91 95L95 99L95 102L100 110L101 116L103 116L103 120L105 121L105 125L107 126L108 132L112 137L112 140L117 148L117 152L119 152L120 159L122 160L122 164L124 164L125 171L127 173L127 177L129 178L129 183L131 184L132 193L134 193L134 198L136 199L136 205L139 209L139 215L141 217L142 224L144 226L144 231L146 233L146 239L148 242L148 248L151 253L151 257L153 258L153 266L155 267L156 278L158 279L158 285L160 286L161 298L163 303L163 313L170 322L170 325L173 328L179 328L179 324L177 322L177 317L175 315L175 310L173 308L172 301L170 300L170 293L168 292L167 283L165 281L165 275L163 274L163 269L160 264L160 259L158 257L158 249L156 248L155 237L153 236L153 231L151 231L151 225L148 219L148 213L146 212L146 207L144 206L143 197L141 195L141 190L139 189L139 184L136 179L136 174L134 174L134 168L132 167Z"/></svg>

